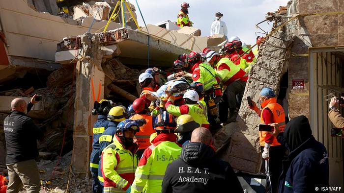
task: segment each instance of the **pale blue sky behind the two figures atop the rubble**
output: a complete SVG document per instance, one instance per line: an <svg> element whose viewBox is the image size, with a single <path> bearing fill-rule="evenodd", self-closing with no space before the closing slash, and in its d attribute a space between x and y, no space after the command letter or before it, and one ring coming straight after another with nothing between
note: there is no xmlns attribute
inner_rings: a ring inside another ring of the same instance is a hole
<svg viewBox="0 0 344 193"><path fill-rule="evenodd" d="M136 7L135 0L129 0ZM138 0L146 24L162 21L176 21L181 0ZM228 36L239 36L246 44L256 42L255 32L262 32L255 24L263 21L267 12L276 11L280 5L286 6L288 0L187 0L190 4L189 17L194 27L201 29L202 36L210 35L210 26L215 19L215 12L224 14ZM139 10L136 10L138 22L143 26ZM270 31L272 24L260 24L265 31ZM258 34L257 35L262 35Z"/></svg>

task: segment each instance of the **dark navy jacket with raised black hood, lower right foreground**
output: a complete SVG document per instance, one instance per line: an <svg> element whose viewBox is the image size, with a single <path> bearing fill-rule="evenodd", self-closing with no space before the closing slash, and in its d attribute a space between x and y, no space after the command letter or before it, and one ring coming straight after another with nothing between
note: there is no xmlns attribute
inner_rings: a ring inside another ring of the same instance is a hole
<svg viewBox="0 0 344 193"><path fill-rule="evenodd" d="M291 152L283 161L279 193L316 193L321 187L328 187L327 151L312 136L308 119L304 116L292 119L286 125L284 137Z"/></svg>

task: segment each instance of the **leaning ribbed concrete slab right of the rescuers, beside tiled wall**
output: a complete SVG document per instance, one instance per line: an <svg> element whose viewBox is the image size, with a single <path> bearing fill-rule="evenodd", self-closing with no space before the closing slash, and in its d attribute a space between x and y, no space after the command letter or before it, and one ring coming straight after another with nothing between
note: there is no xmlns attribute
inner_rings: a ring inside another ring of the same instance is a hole
<svg viewBox="0 0 344 193"><path fill-rule="evenodd" d="M278 24L281 22L278 21ZM253 110L247 108L245 99L251 96L254 101L258 101L259 91L263 87L270 87L278 94L282 75L287 72L291 41L291 35L287 34L284 28L260 46L257 62L249 74L237 122L225 125L214 137L215 147L230 142L229 147L220 153L220 157L228 161L234 169L254 173L260 170L260 118Z"/></svg>

